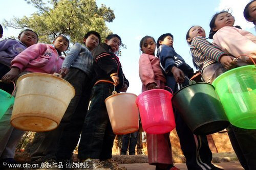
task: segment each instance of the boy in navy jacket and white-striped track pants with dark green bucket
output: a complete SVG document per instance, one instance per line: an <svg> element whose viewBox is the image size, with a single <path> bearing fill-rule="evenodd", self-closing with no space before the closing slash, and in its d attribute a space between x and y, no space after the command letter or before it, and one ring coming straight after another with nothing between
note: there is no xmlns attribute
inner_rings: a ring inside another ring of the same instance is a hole
<svg viewBox="0 0 256 170"><path fill-rule="evenodd" d="M191 78L193 69L173 48L173 35L163 34L157 40L160 65L166 74L166 84L175 93L178 84L187 85L185 75ZM219 169L211 163L212 154L208 146L206 135L194 135L185 124L180 113L175 110L176 131L180 138L180 145L186 158L188 169Z"/></svg>

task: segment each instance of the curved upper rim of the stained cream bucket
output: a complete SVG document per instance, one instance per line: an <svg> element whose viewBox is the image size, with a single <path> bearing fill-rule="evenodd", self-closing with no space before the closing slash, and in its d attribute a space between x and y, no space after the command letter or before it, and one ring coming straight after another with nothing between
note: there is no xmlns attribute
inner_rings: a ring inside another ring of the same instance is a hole
<svg viewBox="0 0 256 170"><path fill-rule="evenodd" d="M20 77L18 78L16 84L18 85L18 83L19 83L21 80L23 80L23 79L25 79L25 78L27 78L27 77L37 77L37 76L51 77L51 78L60 80L60 81L62 81L62 82L65 82L65 83L72 89L72 91L73 91L73 93L74 93L74 95L75 95L75 88L74 88L67 80L62 79L62 78L59 78L59 77L57 77L57 76L53 76L53 75L51 75L51 74L42 73L42 72L30 72L30 73L28 73L28 74L22 75L22 76L20 76Z"/></svg>

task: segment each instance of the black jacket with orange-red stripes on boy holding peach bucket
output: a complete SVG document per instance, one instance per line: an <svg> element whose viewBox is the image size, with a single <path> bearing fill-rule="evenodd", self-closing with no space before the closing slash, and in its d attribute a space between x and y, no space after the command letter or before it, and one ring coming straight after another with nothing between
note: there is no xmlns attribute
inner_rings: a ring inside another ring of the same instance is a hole
<svg viewBox="0 0 256 170"><path fill-rule="evenodd" d="M95 70L94 82L99 80L109 80L113 82L110 77L111 74L117 72L119 77L119 85L115 88L119 91L124 83L129 86L129 81L125 78L119 58L111 51L111 47L106 43L101 43L92 51L94 58L93 68ZM114 82L113 82L114 83Z"/></svg>

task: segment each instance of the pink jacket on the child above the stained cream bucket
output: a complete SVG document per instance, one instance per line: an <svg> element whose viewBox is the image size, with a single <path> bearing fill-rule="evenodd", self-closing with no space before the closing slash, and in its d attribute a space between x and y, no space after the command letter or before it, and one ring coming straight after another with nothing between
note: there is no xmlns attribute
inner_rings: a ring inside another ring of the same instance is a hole
<svg viewBox="0 0 256 170"><path fill-rule="evenodd" d="M37 43L18 54L11 61L11 67L18 67L20 71L53 74L59 71L63 60L52 45Z"/></svg>

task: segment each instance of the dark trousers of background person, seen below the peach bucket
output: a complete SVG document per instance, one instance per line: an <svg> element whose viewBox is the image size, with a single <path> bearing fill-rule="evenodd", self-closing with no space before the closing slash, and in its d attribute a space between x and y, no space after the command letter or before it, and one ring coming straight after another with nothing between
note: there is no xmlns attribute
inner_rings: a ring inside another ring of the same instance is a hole
<svg viewBox="0 0 256 170"><path fill-rule="evenodd" d="M128 133L124 134L122 137L122 148L121 148L121 155L126 155L129 141L129 155L135 155L135 147L137 144L137 139L138 139L138 133L139 131L133 132L133 133Z"/></svg>

